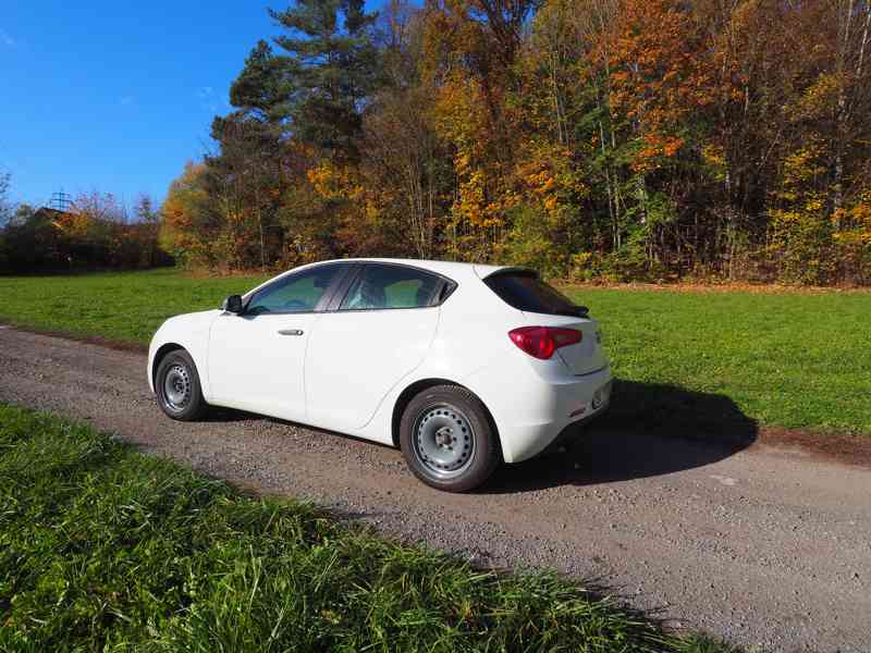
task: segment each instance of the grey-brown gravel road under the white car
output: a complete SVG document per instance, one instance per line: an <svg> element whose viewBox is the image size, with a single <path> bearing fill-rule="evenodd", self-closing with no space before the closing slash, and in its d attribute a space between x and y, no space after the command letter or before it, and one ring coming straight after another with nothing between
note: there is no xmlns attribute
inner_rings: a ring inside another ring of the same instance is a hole
<svg viewBox="0 0 871 653"><path fill-rule="evenodd" d="M604 418L569 452L451 495L376 444L231 411L172 422L144 368L142 354L0 326L2 402L88 420L146 452L476 564L557 568L738 644L871 651L869 469Z"/></svg>

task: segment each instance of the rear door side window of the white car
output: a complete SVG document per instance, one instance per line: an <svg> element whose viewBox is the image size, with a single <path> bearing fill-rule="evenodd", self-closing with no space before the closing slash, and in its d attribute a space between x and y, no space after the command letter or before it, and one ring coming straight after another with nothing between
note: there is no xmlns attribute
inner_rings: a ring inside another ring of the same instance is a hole
<svg viewBox="0 0 871 653"><path fill-rule="evenodd" d="M415 268L367 264L348 288L339 310L431 306L441 283L434 274Z"/></svg>

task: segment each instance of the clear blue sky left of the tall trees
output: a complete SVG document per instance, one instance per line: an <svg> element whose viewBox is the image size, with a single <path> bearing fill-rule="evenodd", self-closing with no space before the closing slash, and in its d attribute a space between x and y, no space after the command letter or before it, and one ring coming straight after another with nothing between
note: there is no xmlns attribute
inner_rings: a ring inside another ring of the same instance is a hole
<svg viewBox="0 0 871 653"><path fill-rule="evenodd" d="M267 8L287 1L0 0L0 171L12 199L63 188L157 200L210 147Z"/></svg>

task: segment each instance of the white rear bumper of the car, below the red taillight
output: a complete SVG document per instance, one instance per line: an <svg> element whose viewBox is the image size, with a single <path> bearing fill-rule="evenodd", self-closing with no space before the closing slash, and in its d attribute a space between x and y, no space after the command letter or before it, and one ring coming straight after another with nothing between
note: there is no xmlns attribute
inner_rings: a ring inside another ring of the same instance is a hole
<svg viewBox="0 0 871 653"><path fill-rule="evenodd" d="M471 390L493 415L505 463L520 463L604 412L611 403L611 368L604 367L578 377L524 374L501 383L498 392Z"/></svg>

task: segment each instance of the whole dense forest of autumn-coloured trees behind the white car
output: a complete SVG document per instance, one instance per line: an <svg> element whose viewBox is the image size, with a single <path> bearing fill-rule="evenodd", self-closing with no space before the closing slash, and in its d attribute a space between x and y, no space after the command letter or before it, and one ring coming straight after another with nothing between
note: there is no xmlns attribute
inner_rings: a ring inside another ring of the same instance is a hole
<svg viewBox="0 0 871 653"><path fill-rule="evenodd" d="M867 283L867 0L352 0L271 12L170 189L188 261L494 260Z"/></svg>

